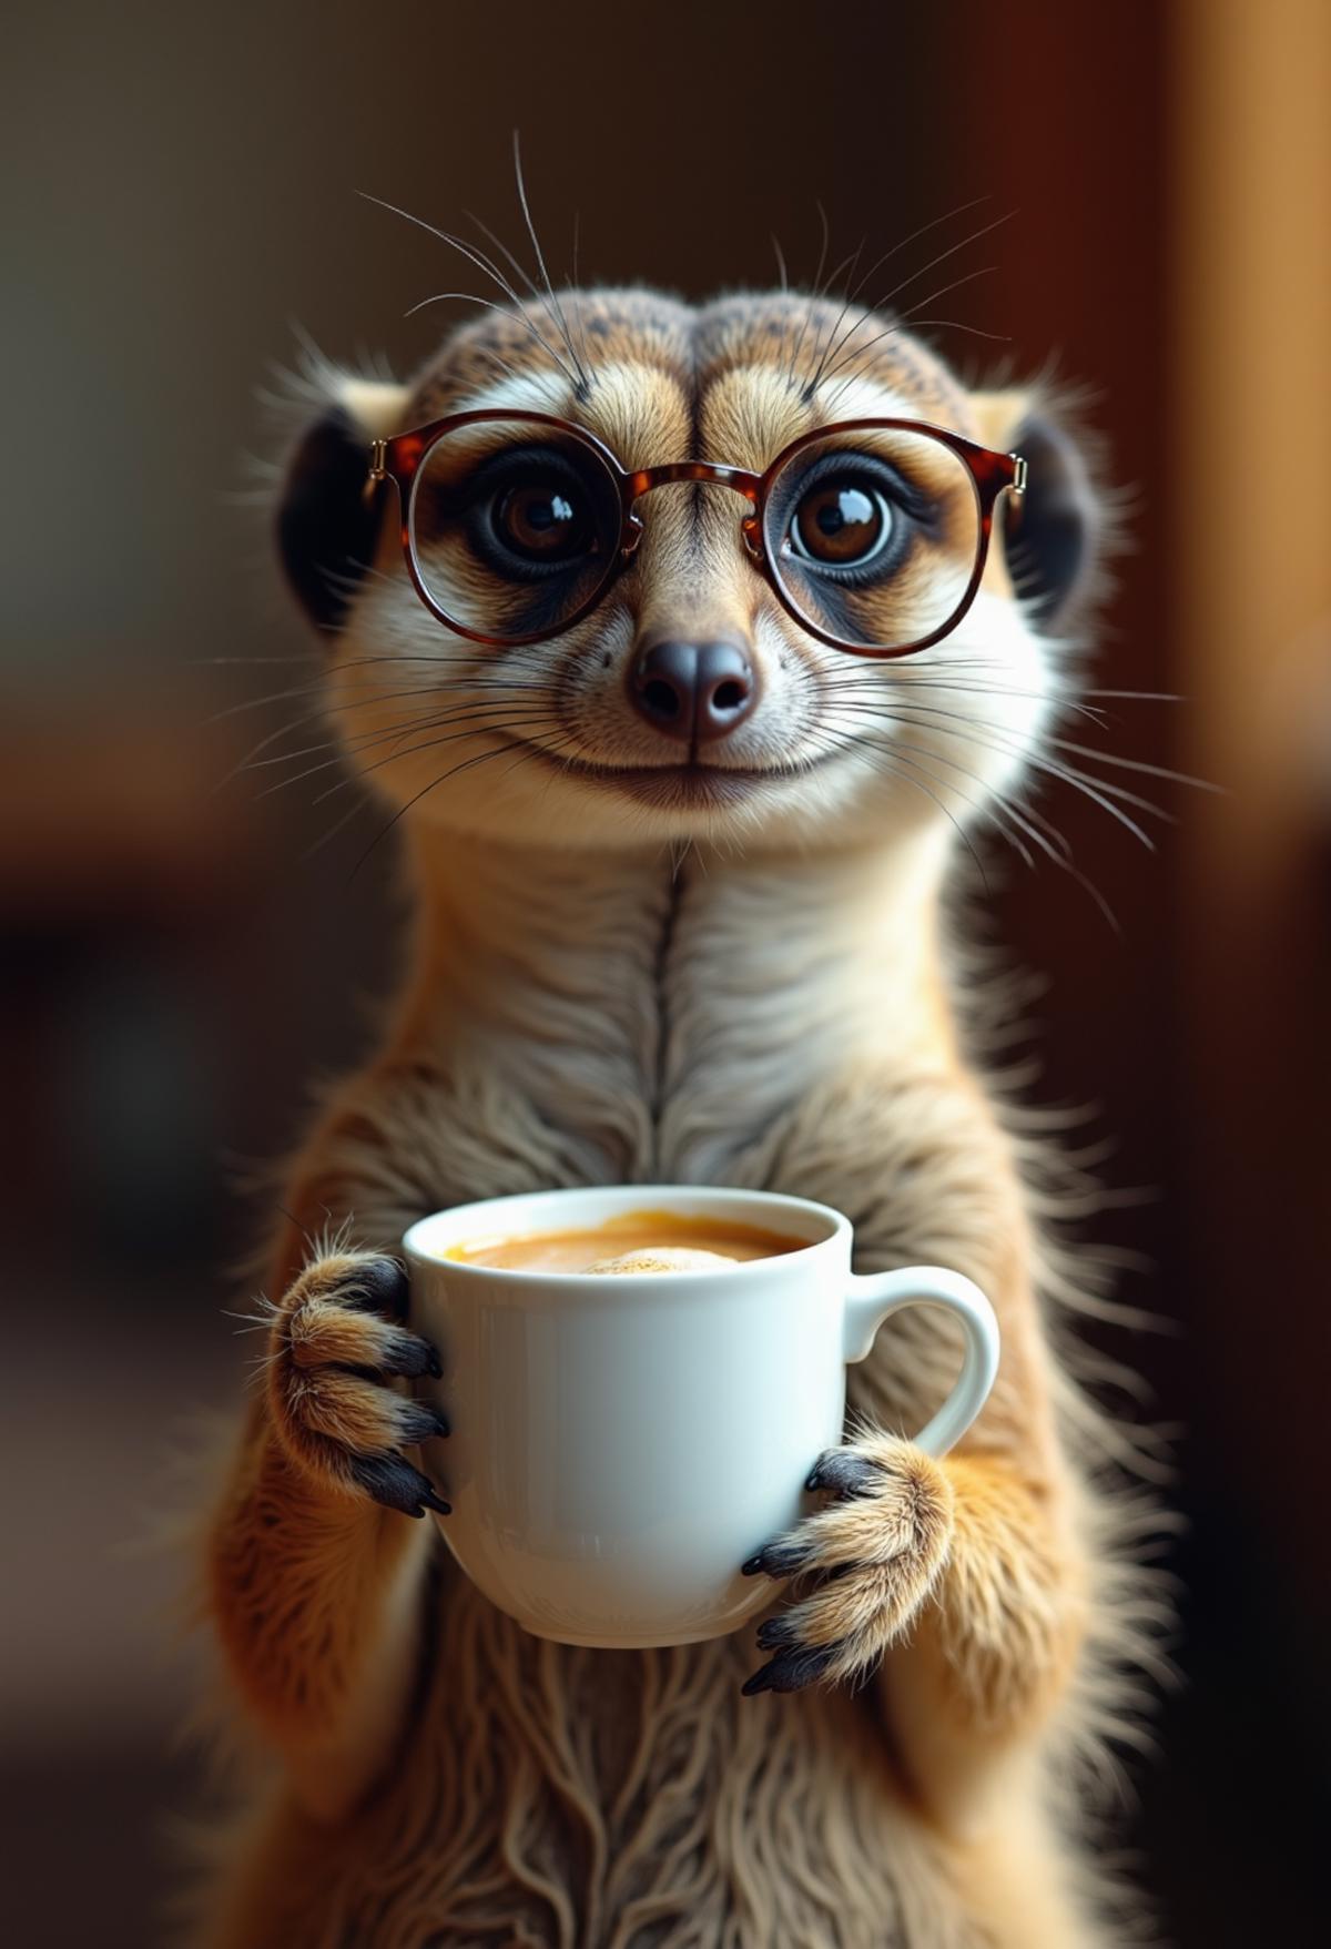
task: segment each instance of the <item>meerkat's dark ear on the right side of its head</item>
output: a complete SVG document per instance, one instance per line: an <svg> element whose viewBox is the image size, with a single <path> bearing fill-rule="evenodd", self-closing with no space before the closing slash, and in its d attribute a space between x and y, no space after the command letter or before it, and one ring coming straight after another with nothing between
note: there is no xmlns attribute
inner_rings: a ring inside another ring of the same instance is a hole
<svg viewBox="0 0 1331 1949"><path fill-rule="evenodd" d="M1041 628L1062 630L1103 587L1107 509L1095 485L1097 442L1039 390L986 392L974 403L984 444L1027 464L1025 495L1002 503L1013 587Z"/></svg>

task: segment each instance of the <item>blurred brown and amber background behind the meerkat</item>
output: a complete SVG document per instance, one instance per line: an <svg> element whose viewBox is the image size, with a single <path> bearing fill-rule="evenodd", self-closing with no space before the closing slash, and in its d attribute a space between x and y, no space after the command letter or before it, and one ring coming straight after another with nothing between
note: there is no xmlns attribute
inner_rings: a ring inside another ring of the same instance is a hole
<svg viewBox="0 0 1331 1949"><path fill-rule="evenodd" d="M394 963L388 848L316 774L230 776L318 672L247 456L308 331L405 372L477 210L522 251L511 131L553 267L702 296L811 281L972 199L1006 216L933 341L1093 392L1134 552L1095 743L1220 793L1146 852L1045 811L1066 873L992 852L992 926L1045 976L1039 1097L1095 1105L1087 1220L1111 1335L1185 1429L1179 1662L1126 1846L1169 1939L1313 1939L1331 1744L1325 1553L1331 1136L1331 10L776 4L629 10L68 0L6 31L8 464L0 709L6 1220L0 1832L23 1949L156 1939L189 1688L138 1542L171 1452L238 1397L238 1179L366 1043ZM920 261L924 261L920 257ZM945 283L937 275L935 283ZM932 285L916 287L933 288ZM972 337L976 327L1006 343ZM265 702L269 700L269 702Z"/></svg>

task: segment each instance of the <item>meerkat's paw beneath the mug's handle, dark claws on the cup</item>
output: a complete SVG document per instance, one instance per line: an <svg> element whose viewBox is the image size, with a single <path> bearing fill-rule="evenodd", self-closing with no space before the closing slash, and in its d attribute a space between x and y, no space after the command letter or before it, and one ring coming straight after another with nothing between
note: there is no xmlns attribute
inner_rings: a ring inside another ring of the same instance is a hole
<svg viewBox="0 0 1331 1949"><path fill-rule="evenodd" d="M807 1487L836 1501L744 1563L746 1577L818 1579L758 1627L758 1647L774 1657L744 1684L746 1694L863 1676L908 1627L947 1561L951 1483L910 1442L879 1434L828 1448Z"/></svg>

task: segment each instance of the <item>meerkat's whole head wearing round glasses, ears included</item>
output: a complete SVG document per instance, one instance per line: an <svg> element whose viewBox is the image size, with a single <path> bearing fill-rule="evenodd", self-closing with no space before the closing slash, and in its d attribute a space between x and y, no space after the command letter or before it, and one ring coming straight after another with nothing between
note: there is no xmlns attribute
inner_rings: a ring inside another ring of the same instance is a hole
<svg viewBox="0 0 1331 1949"><path fill-rule="evenodd" d="M409 386L329 372L279 532L347 752L413 821L824 846L1013 789L1093 513L1033 396L883 316L606 290L487 314Z"/></svg>

